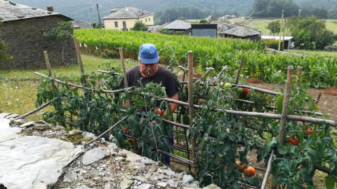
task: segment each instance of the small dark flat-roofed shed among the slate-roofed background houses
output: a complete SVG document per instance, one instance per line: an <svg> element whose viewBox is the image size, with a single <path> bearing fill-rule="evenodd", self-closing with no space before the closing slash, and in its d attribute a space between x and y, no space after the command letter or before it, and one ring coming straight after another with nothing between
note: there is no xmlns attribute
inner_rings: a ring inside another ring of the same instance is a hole
<svg viewBox="0 0 337 189"><path fill-rule="evenodd" d="M217 25L213 24L192 24L192 36L209 36L216 38Z"/></svg>

